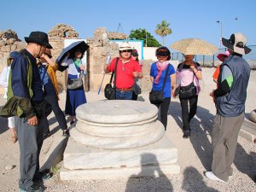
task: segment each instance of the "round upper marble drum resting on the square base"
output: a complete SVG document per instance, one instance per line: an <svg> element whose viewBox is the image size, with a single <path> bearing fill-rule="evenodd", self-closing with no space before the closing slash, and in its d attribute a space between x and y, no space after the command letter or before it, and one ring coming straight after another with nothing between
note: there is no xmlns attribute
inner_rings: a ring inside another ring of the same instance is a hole
<svg viewBox="0 0 256 192"><path fill-rule="evenodd" d="M140 148L164 136L158 109L147 102L101 101L79 106L70 136L92 148Z"/></svg>

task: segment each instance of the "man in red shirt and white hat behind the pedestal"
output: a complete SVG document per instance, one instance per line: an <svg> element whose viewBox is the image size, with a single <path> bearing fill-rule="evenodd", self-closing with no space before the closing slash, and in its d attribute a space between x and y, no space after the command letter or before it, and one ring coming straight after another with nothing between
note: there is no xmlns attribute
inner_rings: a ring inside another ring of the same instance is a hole
<svg viewBox="0 0 256 192"><path fill-rule="evenodd" d="M115 67L117 65L117 67ZM116 71L115 71L116 68ZM139 63L131 58L131 45L127 42L120 44L119 57L113 59L104 67L105 73L116 75L116 99L131 100L135 79L142 79L143 73Z"/></svg>

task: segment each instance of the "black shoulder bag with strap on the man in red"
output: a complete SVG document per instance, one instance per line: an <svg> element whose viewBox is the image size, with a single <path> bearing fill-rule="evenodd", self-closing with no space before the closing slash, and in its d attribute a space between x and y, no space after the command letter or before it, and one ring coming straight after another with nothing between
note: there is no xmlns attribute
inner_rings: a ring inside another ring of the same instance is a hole
<svg viewBox="0 0 256 192"><path fill-rule="evenodd" d="M106 84L104 88L104 96L108 100L115 100L115 87L116 87L116 74L117 74L116 70L117 70L118 61L119 61L119 57L117 57L116 59L114 71L111 74L109 84ZM113 75L114 75L114 79L113 79ZM113 87L112 87L112 80L113 80Z"/></svg>

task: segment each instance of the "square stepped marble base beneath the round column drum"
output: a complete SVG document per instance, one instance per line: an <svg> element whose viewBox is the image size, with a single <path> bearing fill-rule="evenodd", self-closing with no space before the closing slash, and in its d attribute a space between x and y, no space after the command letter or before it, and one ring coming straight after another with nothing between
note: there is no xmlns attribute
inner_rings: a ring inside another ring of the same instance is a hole
<svg viewBox="0 0 256 192"><path fill-rule="evenodd" d="M67 143L61 180L154 176L179 173L177 148L167 137L142 148L85 147L72 138Z"/></svg>

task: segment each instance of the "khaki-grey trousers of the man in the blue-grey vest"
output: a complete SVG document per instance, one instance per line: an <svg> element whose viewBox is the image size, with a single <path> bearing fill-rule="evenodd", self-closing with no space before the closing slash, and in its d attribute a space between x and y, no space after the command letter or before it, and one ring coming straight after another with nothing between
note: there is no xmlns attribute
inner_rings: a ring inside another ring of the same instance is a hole
<svg viewBox="0 0 256 192"><path fill-rule="evenodd" d="M212 129L212 172L218 178L228 181L233 174L231 165L236 154L236 144L244 113L236 117L222 117L216 114Z"/></svg>

